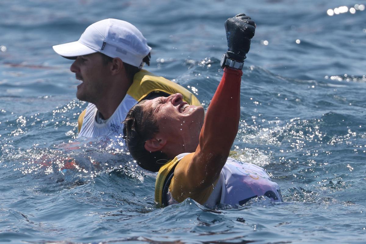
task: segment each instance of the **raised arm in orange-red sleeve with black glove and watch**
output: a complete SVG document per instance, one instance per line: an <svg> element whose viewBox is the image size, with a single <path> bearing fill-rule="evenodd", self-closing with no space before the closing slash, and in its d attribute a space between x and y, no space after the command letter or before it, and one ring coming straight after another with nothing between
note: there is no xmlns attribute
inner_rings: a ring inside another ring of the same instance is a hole
<svg viewBox="0 0 366 244"><path fill-rule="evenodd" d="M178 201L188 197L202 199L202 192L218 179L238 132L241 68L255 23L249 16L239 14L226 20L225 29L228 51L221 60L224 74L206 113L199 145L174 170L171 192Z"/></svg>

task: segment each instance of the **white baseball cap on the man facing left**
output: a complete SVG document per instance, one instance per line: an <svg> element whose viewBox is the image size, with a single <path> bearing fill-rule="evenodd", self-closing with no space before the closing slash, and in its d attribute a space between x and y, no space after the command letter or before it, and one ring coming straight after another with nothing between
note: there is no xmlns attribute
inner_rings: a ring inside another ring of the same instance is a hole
<svg viewBox="0 0 366 244"><path fill-rule="evenodd" d="M67 59L100 52L142 67L142 59L151 48L134 25L119 19L104 19L87 27L78 41L53 46L53 50Z"/></svg>

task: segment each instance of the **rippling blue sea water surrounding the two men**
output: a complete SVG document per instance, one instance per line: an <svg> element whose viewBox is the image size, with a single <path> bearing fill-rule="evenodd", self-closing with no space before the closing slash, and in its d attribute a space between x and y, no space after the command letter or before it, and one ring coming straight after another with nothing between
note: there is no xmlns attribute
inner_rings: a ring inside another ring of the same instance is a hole
<svg viewBox="0 0 366 244"><path fill-rule="evenodd" d="M0 242L365 243L366 10L358 0L2 0ZM267 170L284 203L154 203L156 175L117 145L73 142L86 103L52 45L101 19L131 22L147 69L204 108L220 81L224 21L257 23L232 157ZM333 15L332 15L333 13ZM77 162L78 169L67 165Z"/></svg>

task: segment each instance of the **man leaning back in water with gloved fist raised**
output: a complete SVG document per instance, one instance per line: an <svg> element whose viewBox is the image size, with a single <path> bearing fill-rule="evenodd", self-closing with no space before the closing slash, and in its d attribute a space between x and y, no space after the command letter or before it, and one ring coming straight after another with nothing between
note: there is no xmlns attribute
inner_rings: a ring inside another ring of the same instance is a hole
<svg viewBox="0 0 366 244"><path fill-rule="evenodd" d="M179 93L143 101L126 117L130 153L142 168L158 171L155 200L165 206L187 198L207 206L244 204L263 195L282 201L264 169L228 157L238 132L242 68L255 23L238 14L226 20L225 30L224 74L206 117L201 106L188 105Z"/></svg>

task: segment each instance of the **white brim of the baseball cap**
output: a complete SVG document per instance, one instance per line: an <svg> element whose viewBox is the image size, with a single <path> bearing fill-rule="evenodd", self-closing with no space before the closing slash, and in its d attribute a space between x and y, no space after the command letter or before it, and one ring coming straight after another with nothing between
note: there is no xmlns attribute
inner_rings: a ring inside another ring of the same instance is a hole
<svg viewBox="0 0 366 244"><path fill-rule="evenodd" d="M67 59L76 59L77 56L88 55L98 51L91 49L78 41L52 46L55 52Z"/></svg>

